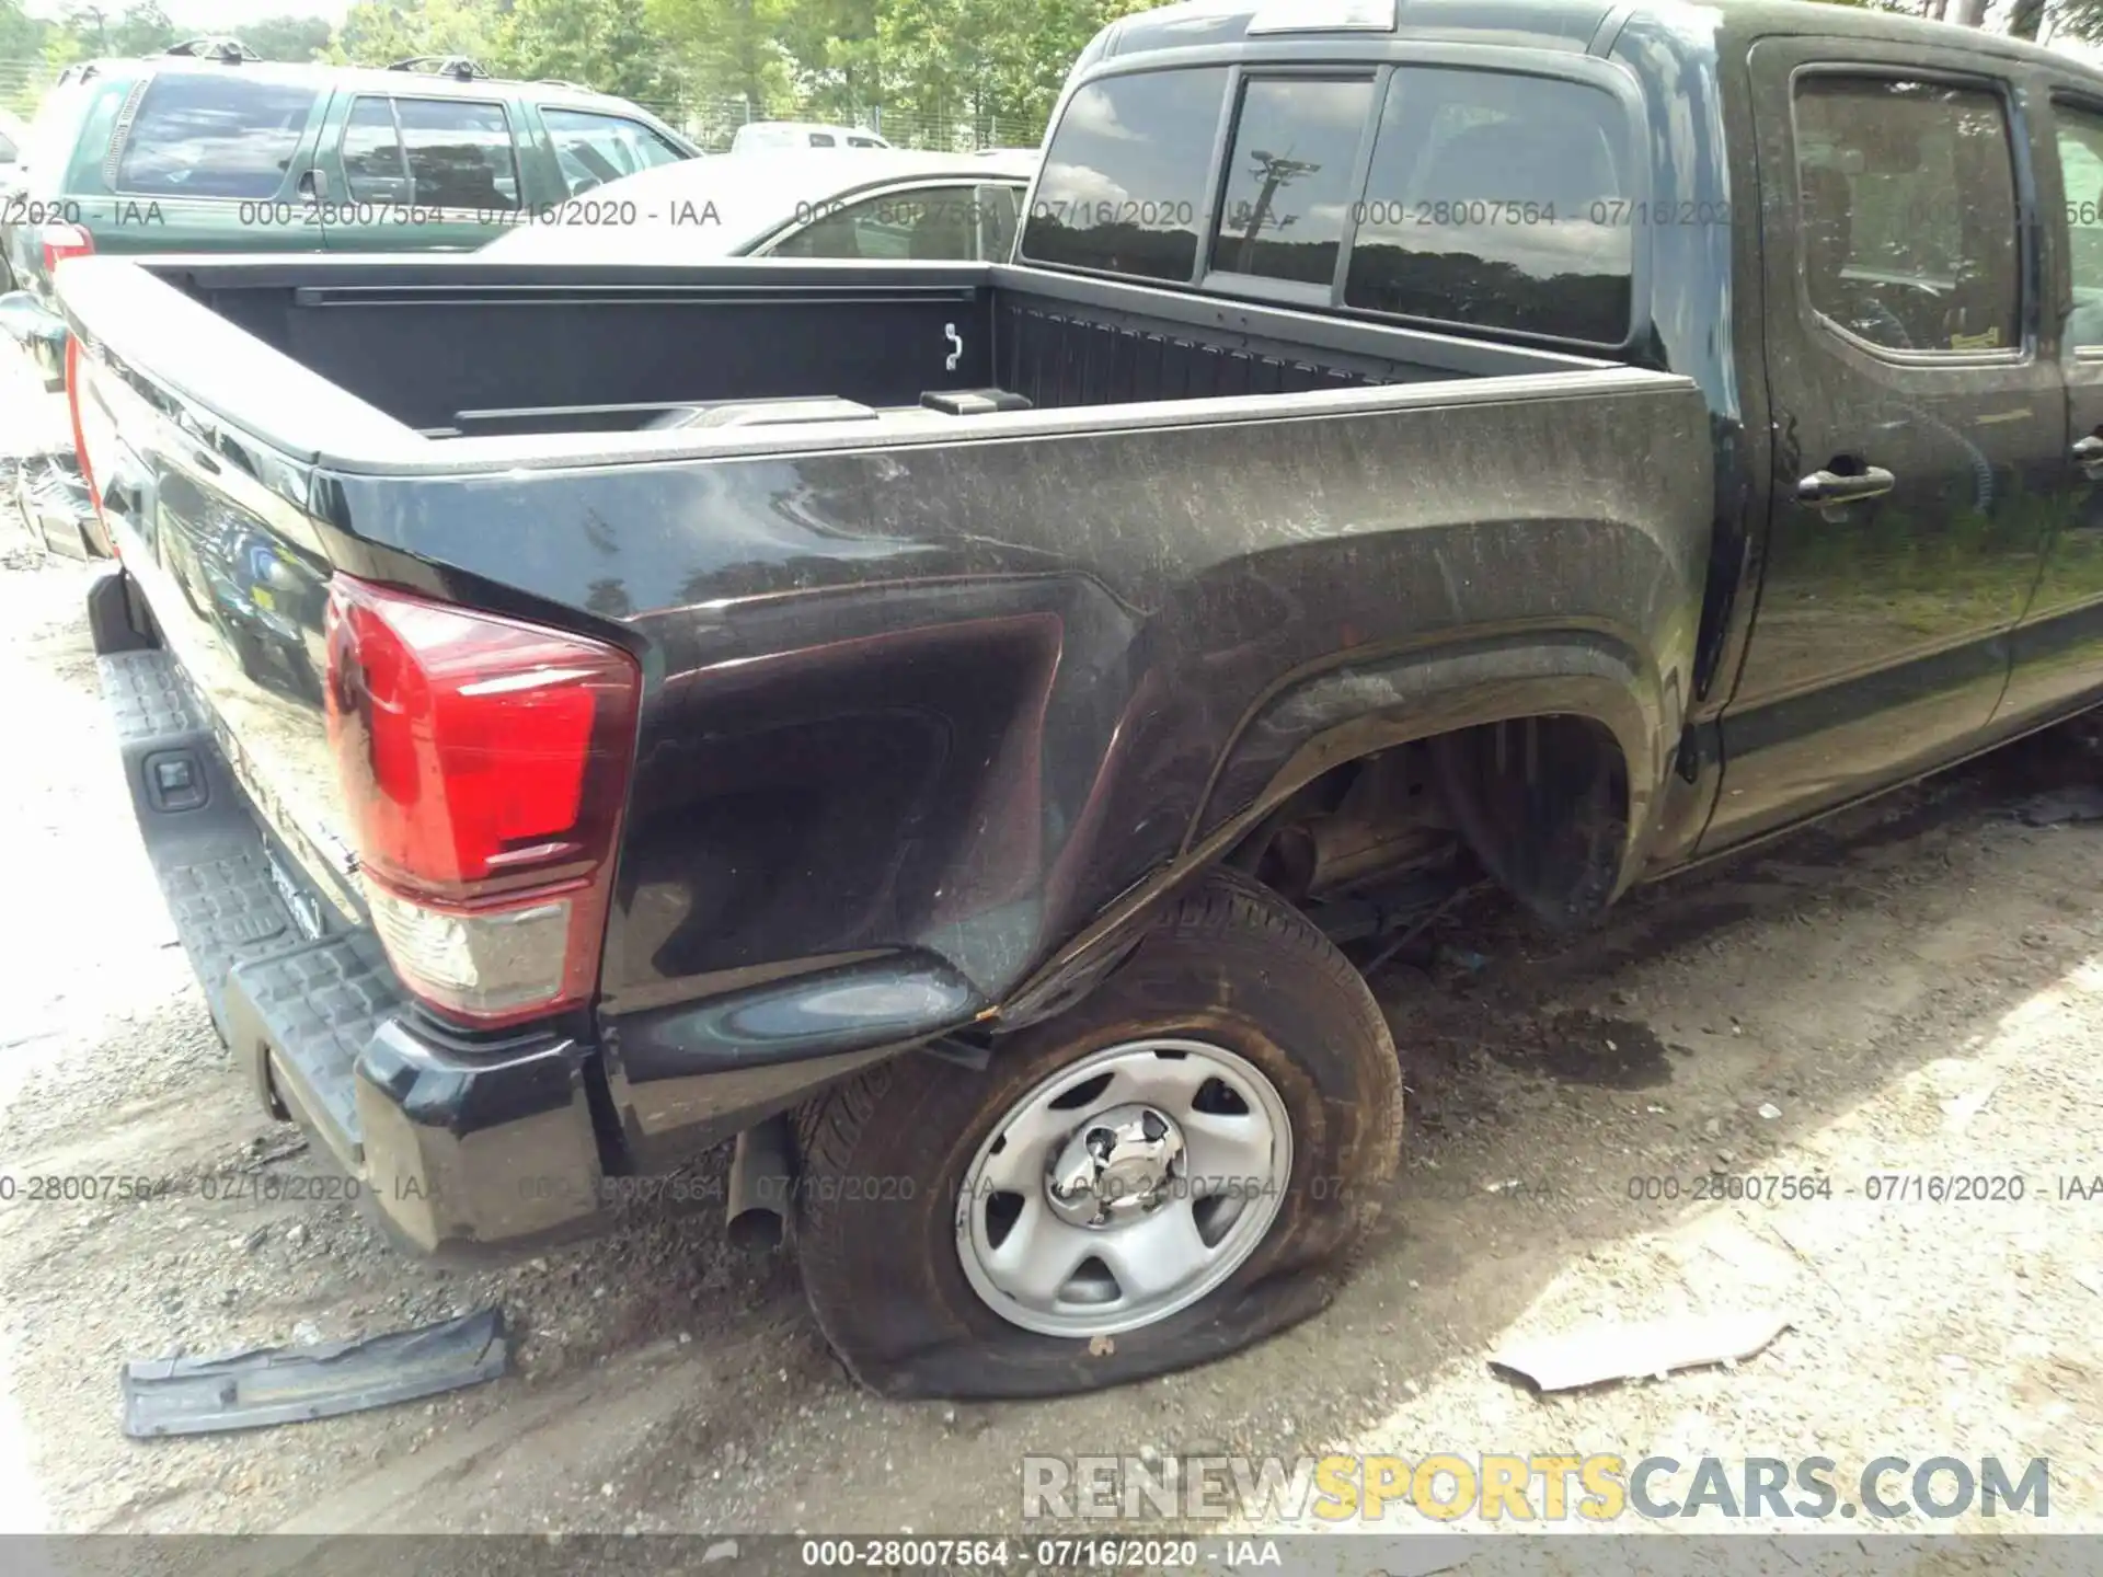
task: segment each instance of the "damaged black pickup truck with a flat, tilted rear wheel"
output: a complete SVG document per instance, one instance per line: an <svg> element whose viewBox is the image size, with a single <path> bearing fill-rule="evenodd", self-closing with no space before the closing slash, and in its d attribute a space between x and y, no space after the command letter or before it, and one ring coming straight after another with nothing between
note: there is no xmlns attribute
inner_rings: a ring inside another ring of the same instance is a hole
<svg viewBox="0 0 2103 1577"><path fill-rule="evenodd" d="M1396 1203L1352 957L2103 694L2099 153L1867 11L1207 0L1014 265L67 263L212 1011L425 1253L736 1135L885 1392L1234 1350Z"/></svg>

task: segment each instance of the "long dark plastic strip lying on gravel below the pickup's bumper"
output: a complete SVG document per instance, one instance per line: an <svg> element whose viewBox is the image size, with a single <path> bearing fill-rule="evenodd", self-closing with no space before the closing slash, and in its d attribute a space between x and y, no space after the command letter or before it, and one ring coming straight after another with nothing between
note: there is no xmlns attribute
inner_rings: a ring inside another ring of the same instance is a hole
<svg viewBox="0 0 2103 1577"><path fill-rule="evenodd" d="M124 1365L124 1434L149 1440L360 1413L496 1379L509 1360L496 1308L362 1342L135 1358Z"/></svg>

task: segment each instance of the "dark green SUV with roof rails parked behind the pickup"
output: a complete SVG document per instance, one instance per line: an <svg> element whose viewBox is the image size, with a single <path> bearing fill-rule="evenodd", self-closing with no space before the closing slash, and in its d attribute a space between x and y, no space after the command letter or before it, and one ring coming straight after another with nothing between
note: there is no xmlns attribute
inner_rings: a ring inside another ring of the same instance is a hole
<svg viewBox="0 0 2103 1577"><path fill-rule="evenodd" d="M273 65L215 38L69 65L0 187L0 330L61 389L50 275L76 252L471 250L696 153L625 99L465 57Z"/></svg>

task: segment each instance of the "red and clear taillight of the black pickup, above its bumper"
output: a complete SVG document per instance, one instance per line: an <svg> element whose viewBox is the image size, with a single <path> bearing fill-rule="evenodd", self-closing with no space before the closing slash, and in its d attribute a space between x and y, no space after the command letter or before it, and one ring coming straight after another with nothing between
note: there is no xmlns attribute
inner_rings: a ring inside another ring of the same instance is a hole
<svg viewBox="0 0 2103 1577"><path fill-rule="evenodd" d="M587 1001L635 757L635 658L336 576L326 694L402 982L473 1024Z"/></svg>

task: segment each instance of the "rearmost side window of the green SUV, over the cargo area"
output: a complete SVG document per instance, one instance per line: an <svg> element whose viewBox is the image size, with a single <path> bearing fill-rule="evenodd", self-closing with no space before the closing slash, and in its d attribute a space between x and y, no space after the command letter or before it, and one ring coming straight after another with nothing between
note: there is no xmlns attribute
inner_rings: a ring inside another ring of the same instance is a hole
<svg viewBox="0 0 2103 1577"><path fill-rule="evenodd" d="M307 130L315 88L236 71L162 71L124 135L118 191L273 198Z"/></svg>

